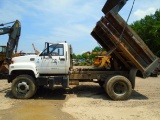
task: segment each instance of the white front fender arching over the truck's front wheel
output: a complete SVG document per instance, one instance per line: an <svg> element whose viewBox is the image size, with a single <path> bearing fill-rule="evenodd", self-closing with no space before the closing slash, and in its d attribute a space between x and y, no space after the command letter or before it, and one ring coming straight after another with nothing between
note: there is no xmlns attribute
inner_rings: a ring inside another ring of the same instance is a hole
<svg viewBox="0 0 160 120"><path fill-rule="evenodd" d="M9 75L11 75L11 73L16 70L22 70L22 71L31 70L33 71L36 78L39 76L37 67L34 63L24 63L23 62L23 63L14 63L14 64L9 65Z"/></svg>

